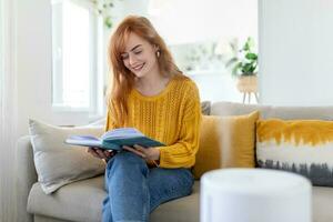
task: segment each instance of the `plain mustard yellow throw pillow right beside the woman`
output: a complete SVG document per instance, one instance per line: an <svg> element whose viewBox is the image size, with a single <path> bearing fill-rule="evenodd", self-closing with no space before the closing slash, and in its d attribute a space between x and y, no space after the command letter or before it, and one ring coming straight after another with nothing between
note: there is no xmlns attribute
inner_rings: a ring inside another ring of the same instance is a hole
<svg viewBox="0 0 333 222"><path fill-rule="evenodd" d="M254 168L255 122L259 111L246 115L203 115L193 174L220 168Z"/></svg>

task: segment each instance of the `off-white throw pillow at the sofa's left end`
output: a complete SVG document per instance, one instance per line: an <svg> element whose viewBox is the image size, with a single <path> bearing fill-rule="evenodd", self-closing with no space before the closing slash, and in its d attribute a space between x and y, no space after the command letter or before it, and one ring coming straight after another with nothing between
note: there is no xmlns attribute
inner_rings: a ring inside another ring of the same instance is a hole
<svg viewBox="0 0 333 222"><path fill-rule="evenodd" d="M69 135L100 137L103 127L61 128L29 120L38 181L47 194L60 186L104 172L105 163L87 152L87 148L64 143Z"/></svg>

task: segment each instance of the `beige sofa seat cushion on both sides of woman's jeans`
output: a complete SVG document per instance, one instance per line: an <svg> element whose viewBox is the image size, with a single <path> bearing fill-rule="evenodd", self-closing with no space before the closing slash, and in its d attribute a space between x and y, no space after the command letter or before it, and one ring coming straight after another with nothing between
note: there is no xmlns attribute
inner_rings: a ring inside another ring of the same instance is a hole
<svg viewBox="0 0 333 222"><path fill-rule="evenodd" d="M28 212L78 222L101 221L104 176L78 181L47 195L40 183L34 183L28 199ZM199 221L199 182L190 196L161 204L151 214L151 221Z"/></svg>

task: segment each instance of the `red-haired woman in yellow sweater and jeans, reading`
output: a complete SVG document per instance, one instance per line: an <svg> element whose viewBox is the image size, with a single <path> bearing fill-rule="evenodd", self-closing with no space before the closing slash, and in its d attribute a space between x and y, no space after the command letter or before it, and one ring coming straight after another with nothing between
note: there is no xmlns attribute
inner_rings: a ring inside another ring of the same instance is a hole
<svg viewBox="0 0 333 222"><path fill-rule="evenodd" d="M113 71L105 130L133 127L167 144L123 147L119 153L90 148L108 161L103 221L148 221L159 204L189 195L201 121L198 88L174 64L150 21L125 18L109 48Z"/></svg>

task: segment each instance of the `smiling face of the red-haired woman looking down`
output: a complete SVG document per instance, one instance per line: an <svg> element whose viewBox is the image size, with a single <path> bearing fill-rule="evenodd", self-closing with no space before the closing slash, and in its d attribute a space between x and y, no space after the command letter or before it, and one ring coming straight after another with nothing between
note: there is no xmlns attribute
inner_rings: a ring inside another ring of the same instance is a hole
<svg viewBox="0 0 333 222"><path fill-rule="evenodd" d="M159 73L157 50L157 47L132 32L125 43L124 52L121 53L121 59L125 68L135 77L143 78Z"/></svg>

